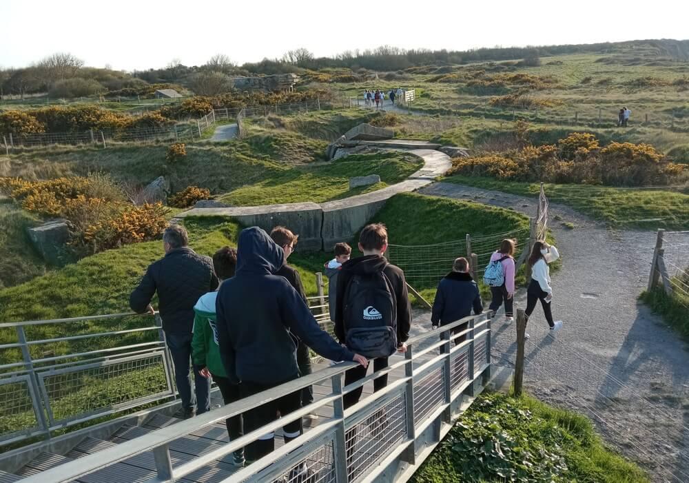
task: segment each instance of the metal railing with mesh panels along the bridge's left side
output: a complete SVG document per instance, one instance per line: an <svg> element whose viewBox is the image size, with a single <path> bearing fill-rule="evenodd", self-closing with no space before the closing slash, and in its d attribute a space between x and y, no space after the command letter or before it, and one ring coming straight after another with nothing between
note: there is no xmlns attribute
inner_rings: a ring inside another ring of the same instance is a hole
<svg viewBox="0 0 689 483"><path fill-rule="evenodd" d="M332 334L323 300L309 305ZM0 324L0 446L175 397L157 313Z"/></svg>

